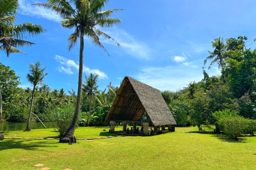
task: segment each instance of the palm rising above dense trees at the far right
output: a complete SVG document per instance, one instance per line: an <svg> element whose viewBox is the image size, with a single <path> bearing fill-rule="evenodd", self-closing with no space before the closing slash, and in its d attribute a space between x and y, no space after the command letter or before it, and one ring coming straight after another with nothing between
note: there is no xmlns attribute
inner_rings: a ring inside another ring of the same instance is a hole
<svg viewBox="0 0 256 170"><path fill-rule="evenodd" d="M211 65L213 65L214 63L218 63L218 68L223 69L225 61L224 61L224 56L223 54L226 52L228 44L224 44L223 42L223 37L220 40L219 38L214 39L214 42L211 41L211 45L213 46L214 51L208 51L210 53L210 56L206 57L206 59L204 60L204 65L206 64L207 60L212 60L210 66L208 67L208 69L211 69ZM226 74L224 73L224 78L225 81L227 83L227 78L226 78Z"/></svg>

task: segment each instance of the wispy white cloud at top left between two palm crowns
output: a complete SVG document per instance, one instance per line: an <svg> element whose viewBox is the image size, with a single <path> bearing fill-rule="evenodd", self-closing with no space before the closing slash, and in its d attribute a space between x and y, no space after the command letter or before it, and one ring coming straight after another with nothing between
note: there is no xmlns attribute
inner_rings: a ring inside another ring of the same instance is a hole
<svg viewBox="0 0 256 170"><path fill-rule="evenodd" d="M31 1L30 1L31 2ZM36 1L32 0L31 4L37 3ZM39 18L46 18L47 20L60 22L61 18L54 12L47 10L43 7L38 7L34 5L30 5L28 1L19 0L20 4L20 13L23 15L29 16L37 16Z"/></svg>

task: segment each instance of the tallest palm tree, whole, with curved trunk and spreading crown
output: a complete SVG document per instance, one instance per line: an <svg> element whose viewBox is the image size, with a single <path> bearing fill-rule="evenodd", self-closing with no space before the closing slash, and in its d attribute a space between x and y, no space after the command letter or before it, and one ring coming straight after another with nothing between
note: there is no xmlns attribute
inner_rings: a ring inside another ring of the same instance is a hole
<svg viewBox="0 0 256 170"><path fill-rule="evenodd" d="M80 53L79 53L79 73L78 73L78 90L77 102L74 111L72 123L66 133L60 138L60 142L68 142L70 137L74 135L76 122L78 119L81 92L82 92L82 77L83 77L83 48L84 36L91 39L92 44L99 46L104 51L107 50L100 42L100 37L112 39L117 46L120 46L112 37L100 31L100 27L113 27L121 23L121 20L110 18L114 12L121 10L110 9L102 11L110 1L109 0L47 0L48 3L37 3L34 5L45 7L56 12L63 18L61 25L68 29L73 29L74 32L68 38L68 50L71 50L80 38ZM107 53L108 54L108 53ZM109 55L109 54L108 54Z"/></svg>

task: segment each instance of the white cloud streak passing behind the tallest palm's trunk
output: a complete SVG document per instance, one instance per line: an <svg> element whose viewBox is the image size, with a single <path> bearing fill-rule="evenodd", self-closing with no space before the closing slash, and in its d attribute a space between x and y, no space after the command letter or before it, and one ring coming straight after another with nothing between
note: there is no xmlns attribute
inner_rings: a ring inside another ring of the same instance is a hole
<svg viewBox="0 0 256 170"><path fill-rule="evenodd" d="M60 55L55 55L55 59L60 63L60 66L57 68L59 72L64 71L66 74L74 74L73 70L79 70L79 63L74 62L74 60L67 59ZM89 67L83 66L83 72L90 74L98 74L99 79L107 79L108 76L104 72L98 69L90 69Z"/></svg>

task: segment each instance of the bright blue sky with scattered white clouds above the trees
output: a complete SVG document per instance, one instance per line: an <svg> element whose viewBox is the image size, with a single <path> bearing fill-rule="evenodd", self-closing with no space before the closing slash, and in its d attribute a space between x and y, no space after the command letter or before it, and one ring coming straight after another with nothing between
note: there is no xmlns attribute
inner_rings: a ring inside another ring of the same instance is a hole
<svg viewBox="0 0 256 170"><path fill-rule="evenodd" d="M72 51L67 50L67 39L73 30L61 26L61 18L51 11L31 6L41 0L20 0L20 11L16 24L32 22L42 25L46 33L25 39L36 43L20 49L24 54L0 53L0 62L10 66L20 77L20 87L31 87L26 75L29 63L39 61L47 67L44 82L52 90L63 88L65 92L78 86L78 43ZM83 73L98 74L98 89L104 90L111 82L120 86L125 76L130 76L160 91L176 91L187 87L189 82L199 82L203 78L204 60L213 51L211 41L223 37L248 37L255 49L256 1L227 0L112 0L105 8L126 9L114 13L120 25L99 28L111 40L100 39L110 56L94 46L85 37ZM207 61L206 72L220 75L217 65L210 70ZM83 76L85 81L85 76Z"/></svg>

